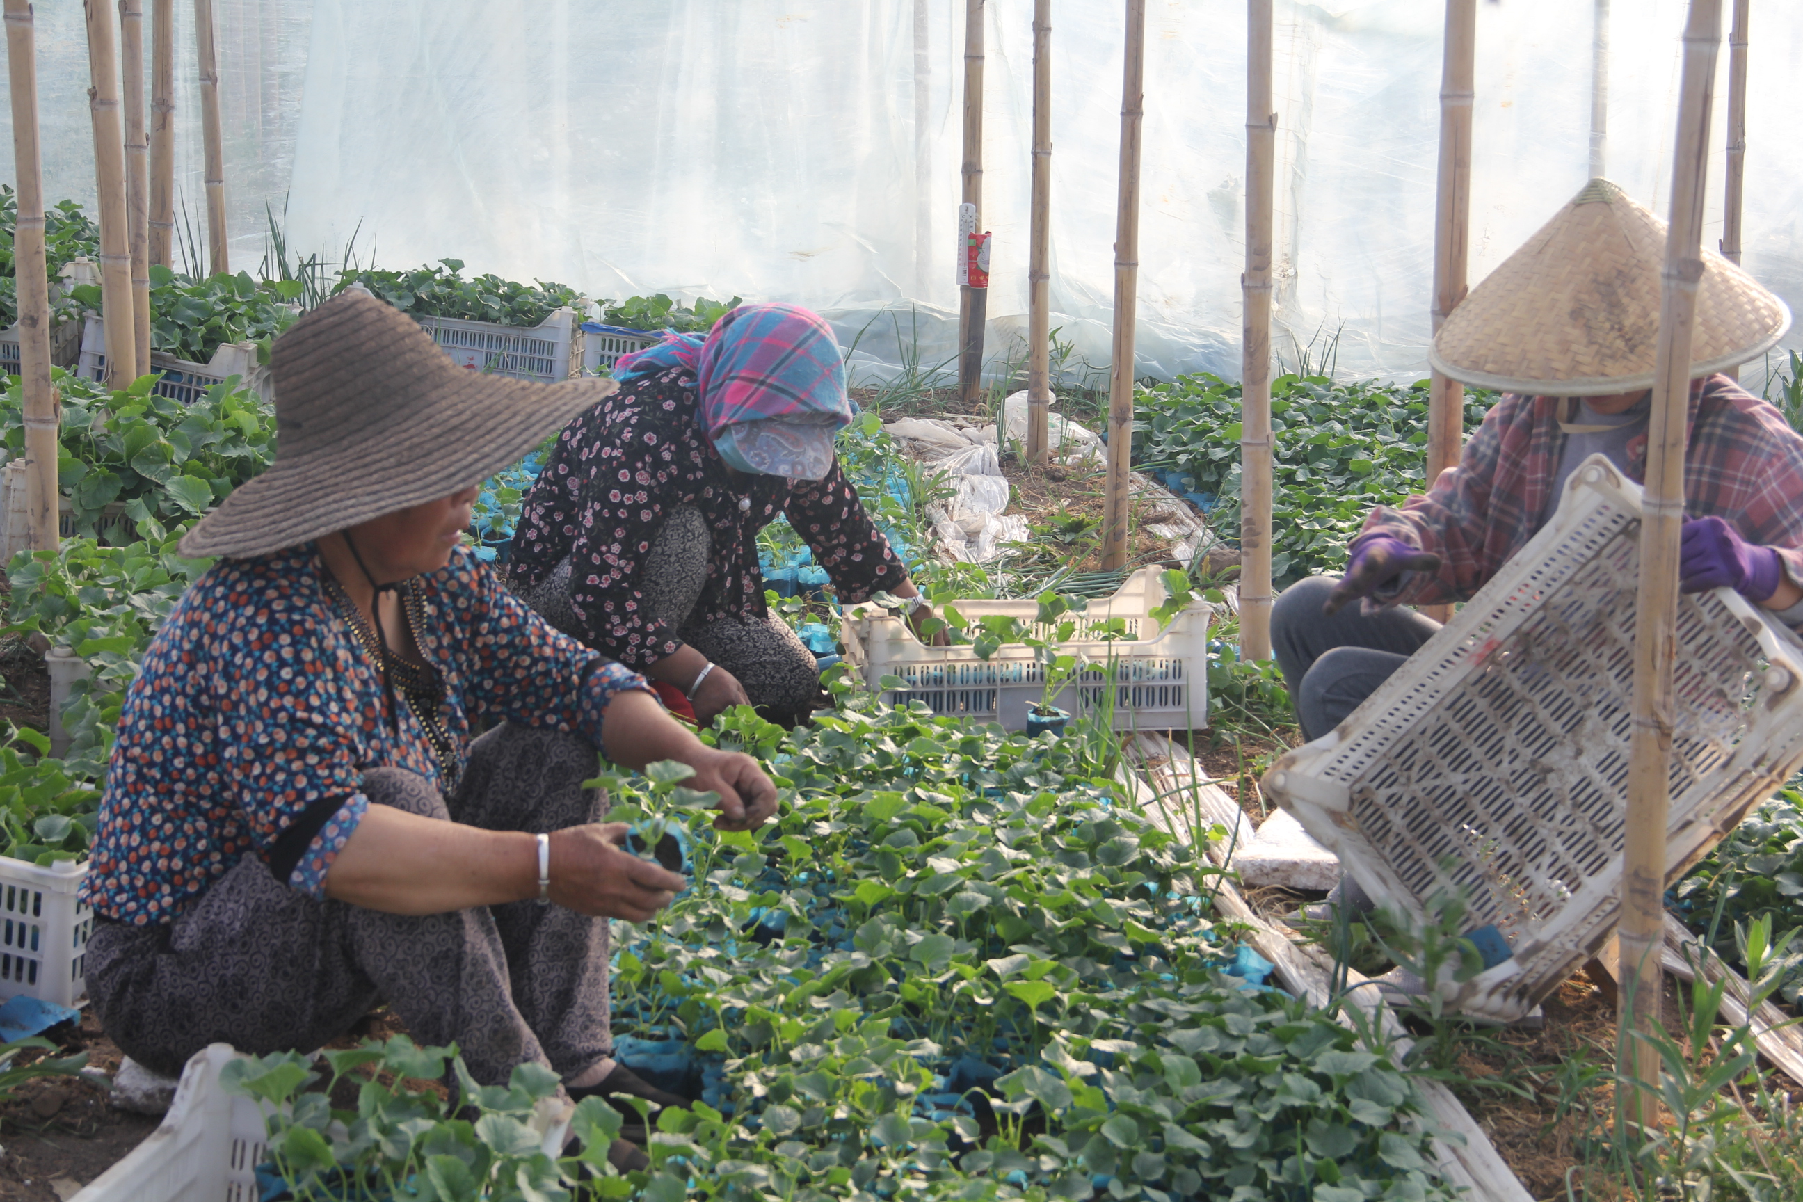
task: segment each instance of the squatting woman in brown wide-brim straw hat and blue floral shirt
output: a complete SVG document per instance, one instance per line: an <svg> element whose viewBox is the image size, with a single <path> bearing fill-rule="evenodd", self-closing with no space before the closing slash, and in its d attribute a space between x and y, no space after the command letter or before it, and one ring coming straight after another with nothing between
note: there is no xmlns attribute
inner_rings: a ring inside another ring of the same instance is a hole
<svg viewBox="0 0 1803 1202"><path fill-rule="evenodd" d="M101 1024L175 1072L215 1040L319 1047L382 998L478 1081L642 1094L609 1060L608 917L685 881L595 820L595 750L692 766L728 829L775 789L460 546L478 481L613 384L460 369L359 294L272 369L276 461L182 539L220 562L126 694L85 885Z"/></svg>

